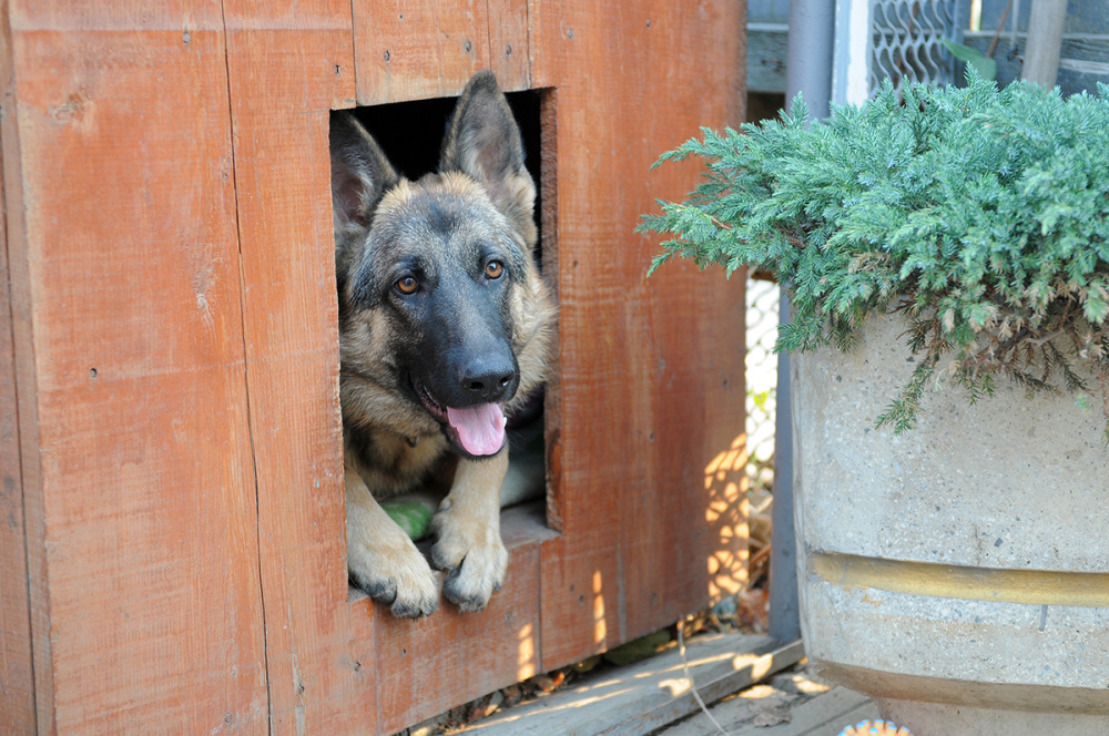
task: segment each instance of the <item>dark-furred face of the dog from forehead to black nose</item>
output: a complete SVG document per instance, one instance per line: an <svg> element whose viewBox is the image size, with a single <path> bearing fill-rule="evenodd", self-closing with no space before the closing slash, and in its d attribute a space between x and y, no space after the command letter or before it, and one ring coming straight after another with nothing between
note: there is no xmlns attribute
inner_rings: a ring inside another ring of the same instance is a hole
<svg viewBox="0 0 1109 736"><path fill-rule="evenodd" d="M508 297L528 256L466 184L448 175L386 195L348 285L354 315L391 315L398 386L433 413L503 403L519 385Z"/></svg>

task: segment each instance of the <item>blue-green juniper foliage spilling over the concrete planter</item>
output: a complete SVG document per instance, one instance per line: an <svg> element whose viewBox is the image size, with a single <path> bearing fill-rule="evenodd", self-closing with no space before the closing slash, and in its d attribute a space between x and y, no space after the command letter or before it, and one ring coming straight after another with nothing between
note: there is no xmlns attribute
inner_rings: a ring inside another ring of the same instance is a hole
<svg viewBox="0 0 1109 736"><path fill-rule="evenodd" d="M887 83L811 126L798 98L780 122L703 129L655 164L706 173L644 216L671 236L651 270L681 256L772 272L793 314L779 350L848 349L867 315L904 311L923 355L881 420L898 430L940 376L971 400L998 375L1100 392L1109 419L1109 86L1064 100L968 81L904 100Z"/></svg>

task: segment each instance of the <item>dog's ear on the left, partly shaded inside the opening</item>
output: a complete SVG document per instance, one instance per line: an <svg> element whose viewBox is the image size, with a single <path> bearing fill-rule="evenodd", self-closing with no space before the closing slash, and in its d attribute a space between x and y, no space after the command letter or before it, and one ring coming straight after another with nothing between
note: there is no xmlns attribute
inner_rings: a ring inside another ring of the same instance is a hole
<svg viewBox="0 0 1109 736"><path fill-rule="evenodd" d="M368 227L381 194L400 177L374 136L353 115L332 115L330 136L336 225Z"/></svg>

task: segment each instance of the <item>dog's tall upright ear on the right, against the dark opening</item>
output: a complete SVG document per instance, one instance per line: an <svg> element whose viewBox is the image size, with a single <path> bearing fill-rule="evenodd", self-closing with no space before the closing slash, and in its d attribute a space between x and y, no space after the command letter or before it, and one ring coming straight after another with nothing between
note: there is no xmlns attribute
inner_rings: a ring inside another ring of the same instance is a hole
<svg viewBox="0 0 1109 736"><path fill-rule="evenodd" d="M536 185L523 166L520 129L492 72L478 72L462 90L442 140L439 171L460 171L484 184L528 245L535 244Z"/></svg>

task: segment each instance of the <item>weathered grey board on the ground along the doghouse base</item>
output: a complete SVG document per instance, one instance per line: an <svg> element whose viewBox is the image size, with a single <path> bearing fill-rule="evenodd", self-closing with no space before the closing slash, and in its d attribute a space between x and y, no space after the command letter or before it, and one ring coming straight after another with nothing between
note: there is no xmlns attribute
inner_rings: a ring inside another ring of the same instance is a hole
<svg viewBox="0 0 1109 736"><path fill-rule="evenodd" d="M689 674L676 647L582 685L499 713L466 729L480 736L650 734L698 709L690 678L713 702L795 664L800 642L719 634L686 646Z"/></svg>

